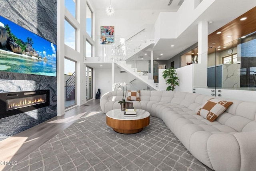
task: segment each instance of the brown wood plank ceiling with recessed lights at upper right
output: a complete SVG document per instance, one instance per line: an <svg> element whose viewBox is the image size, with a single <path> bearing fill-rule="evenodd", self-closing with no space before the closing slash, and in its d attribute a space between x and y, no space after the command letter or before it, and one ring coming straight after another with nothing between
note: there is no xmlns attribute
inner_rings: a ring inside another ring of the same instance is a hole
<svg viewBox="0 0 256 171"><path fill-rule="evenodd" d="M244 17L247 19L241 21L240 19ZM221 34L217 34L217 32L221 32ZM253 32L256 32L256 7L208 35L208 54L214 53L215 48L220 49L216 50L217 52L234 48L242 36ZM227 37L229 35L231 37ZM220 48L218 48L219 46ZM225 46L226 48L223 48Z"/></svg>

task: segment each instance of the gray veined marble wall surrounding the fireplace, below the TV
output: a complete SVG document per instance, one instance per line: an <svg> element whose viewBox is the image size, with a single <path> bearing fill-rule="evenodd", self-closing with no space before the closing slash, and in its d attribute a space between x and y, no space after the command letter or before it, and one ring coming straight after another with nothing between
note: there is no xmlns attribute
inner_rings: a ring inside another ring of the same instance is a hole
<svg viewBox="0 0 256 171"><path fill-rule="evenodd" d="M0 93L50 89L49 106L0 119L0 140L57 116L56 77L0 72L0 78Z"/></svg>

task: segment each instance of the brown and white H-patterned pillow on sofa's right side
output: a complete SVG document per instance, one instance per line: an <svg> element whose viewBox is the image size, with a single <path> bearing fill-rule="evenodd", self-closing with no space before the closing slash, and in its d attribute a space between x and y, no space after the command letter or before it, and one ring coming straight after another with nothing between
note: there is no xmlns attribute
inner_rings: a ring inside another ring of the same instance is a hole
<svg viewBox="0 0 256 171"><path fill-rule="evenodd" d="M206 101L202 108L197 112L198 115L201 115L210 122L213 122L220 116L233 102L224 101L220 99L209 99Z"/></svg>

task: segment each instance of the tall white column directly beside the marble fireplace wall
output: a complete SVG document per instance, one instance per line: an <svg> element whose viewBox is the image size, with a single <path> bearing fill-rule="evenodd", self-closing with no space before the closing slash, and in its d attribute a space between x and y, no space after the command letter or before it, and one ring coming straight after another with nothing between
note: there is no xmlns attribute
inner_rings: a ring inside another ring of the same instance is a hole
<svg viewBox="0 0 256 171"><path fill-rule="evenodd" d="M58 0L57 4L57 115L65 114L65 89L64 89L64 58L65 58L65 44L64 44L64 20L65 20L65 2Z"/></svg>

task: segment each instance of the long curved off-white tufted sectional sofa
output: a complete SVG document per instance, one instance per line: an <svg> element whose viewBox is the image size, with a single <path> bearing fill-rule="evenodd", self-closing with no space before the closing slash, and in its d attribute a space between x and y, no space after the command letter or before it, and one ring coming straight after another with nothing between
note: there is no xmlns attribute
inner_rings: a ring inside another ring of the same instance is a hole
<svg viewBox="0 0 256 171"><path fill-rule="evenodd" d="M122 91L102 95L104 113L119 109ZM197 115L212 96L175 91L140 91L140 101L132 101L158 117L198 160L216 171L256 170L256 103L232 101L224 113L210 122Z"/></svg>

